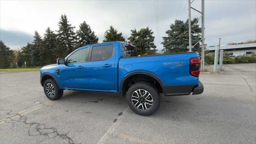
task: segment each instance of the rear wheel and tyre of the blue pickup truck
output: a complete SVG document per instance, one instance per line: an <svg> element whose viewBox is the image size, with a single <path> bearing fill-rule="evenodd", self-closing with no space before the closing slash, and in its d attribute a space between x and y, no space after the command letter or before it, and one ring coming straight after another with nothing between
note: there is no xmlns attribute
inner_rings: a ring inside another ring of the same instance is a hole
<svg viewBox="0 0 256 144"><path fill-rule="evenodd" d="M132 85L126 93L126 100L134 112L143 116L154 114L160 105L156 87L147 82Z"/></svg>

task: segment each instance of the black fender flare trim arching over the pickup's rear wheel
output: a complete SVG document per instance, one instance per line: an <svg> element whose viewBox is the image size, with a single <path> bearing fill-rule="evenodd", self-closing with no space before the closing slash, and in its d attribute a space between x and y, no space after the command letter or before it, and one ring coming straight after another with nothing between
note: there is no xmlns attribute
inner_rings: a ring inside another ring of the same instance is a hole
<svg viewBox="0 0 256 144"><path fill-rule="evenodd" d="M122 93L123 85L124 85L125 80L127 78L129 78L130 76L133 76L133 75L136 75L136 74L144 74L144 75L147 75L147 76L151 76L152 78L156 79L157 82L161 86L164 86L164 83L162 82L162 80L158 76L156 76L155 74L152 74L150 72L145 72L145 71L136 71L136 72L131 72L129 74L126 74L126 76L124 76L124 78L122 79L121 84L120 84L120 93Z"/></svg>

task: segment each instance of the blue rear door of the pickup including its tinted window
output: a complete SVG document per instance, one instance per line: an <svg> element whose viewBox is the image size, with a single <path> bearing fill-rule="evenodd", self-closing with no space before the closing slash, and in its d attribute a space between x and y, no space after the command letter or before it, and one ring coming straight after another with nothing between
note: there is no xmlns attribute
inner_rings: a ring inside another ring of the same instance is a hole
<svg viewBox="0 0 256 144"><path fill-rule="evenodd" d="M114 90L115 56L114 44L102 44L90 48L86 64L90 90Z"/></svg>

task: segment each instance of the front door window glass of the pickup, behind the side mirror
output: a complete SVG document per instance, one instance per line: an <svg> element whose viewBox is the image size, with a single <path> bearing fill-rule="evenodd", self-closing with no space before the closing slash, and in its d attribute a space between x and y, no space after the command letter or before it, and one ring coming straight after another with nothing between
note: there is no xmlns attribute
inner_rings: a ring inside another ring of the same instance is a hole
<svg viewBox="0 0 256 144"><path fill-rule="evenodd" d="M83 48L74 52L71 56L68 57L68 63L85 62L87 50L88 48Z"/></svg>

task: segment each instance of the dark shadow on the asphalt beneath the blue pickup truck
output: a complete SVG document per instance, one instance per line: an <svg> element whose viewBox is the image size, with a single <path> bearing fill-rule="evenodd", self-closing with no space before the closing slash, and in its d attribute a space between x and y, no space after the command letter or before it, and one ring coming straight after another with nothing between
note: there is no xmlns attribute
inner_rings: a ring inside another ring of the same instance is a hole
<svg viewBox="0 0 256 144"><path fill-rule="evenodd" d="M74 91L65 90L64 95L60 99L65 102L77 102L79 104L100 104L99 106L118 105L120 108L128 106L126 97L118 93L107 92L89 92L89 91ZM180 120L182 114L190 113L196 115L194 110L195 102L199 102L201 96L163 96L161 94L160 107L158 111L152 115L152 117L168 118L172 120ZM115 107L116 107L115 106ZM99 109L100 110L100 109ZM102 109L101 109L102 110ZM135 114L132 110L129 110L129 114ZM138 115L139 116L139 115Z"/></svg>

